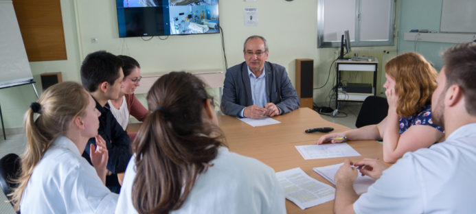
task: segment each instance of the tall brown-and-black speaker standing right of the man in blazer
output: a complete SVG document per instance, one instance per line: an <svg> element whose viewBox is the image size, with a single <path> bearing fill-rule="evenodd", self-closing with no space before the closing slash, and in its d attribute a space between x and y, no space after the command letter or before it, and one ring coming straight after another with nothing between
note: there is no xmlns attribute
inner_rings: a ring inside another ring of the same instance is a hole
<svg viewBox="0 0 476 214"><path fill-rule="evenodd" d="M301 107L313 109L314 60L296 59L296 92Z"/></svg>

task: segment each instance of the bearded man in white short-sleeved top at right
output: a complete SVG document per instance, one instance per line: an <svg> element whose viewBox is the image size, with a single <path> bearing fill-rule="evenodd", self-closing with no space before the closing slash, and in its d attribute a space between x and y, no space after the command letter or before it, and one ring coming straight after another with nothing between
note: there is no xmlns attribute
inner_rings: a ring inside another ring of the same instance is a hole
<svg viewBox="0 0 476 214"><path fill-rule="evenodd" d="M378 179L360 197L352 189L359 171L345 160L335 175L335 213L476 212L476 43L455 45L442 58L431 112L446 140L407 152L388 169L373 159L354 163Z"/></svg>

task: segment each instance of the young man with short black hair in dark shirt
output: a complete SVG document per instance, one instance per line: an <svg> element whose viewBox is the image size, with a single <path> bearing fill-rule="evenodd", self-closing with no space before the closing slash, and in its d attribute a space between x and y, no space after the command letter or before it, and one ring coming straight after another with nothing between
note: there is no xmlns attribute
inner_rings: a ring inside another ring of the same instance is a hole
<svg viewBox="0 0 476 214"><path fill-rule="evenodd" d="M104 141L109 153L106 168L109 170L106 176L106 187L112 192L119 193L120 181L117 174L126 171L129 159L132 156L131 139L127 132L117 123L107 104L108 99L117 99L121 88L124 87L123 62L120 58L106 51L89 53L81 65L81 82L96 102L96 108L101 112L99 117L98 134ZM89 147L95 145L95 138L89 139L82 156L89 163Z"/></svg>

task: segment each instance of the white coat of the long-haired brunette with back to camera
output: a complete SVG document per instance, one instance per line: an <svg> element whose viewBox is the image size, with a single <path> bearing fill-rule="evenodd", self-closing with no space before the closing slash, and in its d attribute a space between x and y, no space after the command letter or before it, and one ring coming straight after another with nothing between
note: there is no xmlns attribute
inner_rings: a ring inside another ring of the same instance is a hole
<svg viewBox="0 0 476 214"><path fill-rule="evenodd" d="M116 213L137 213L131 200L135 155L129 161ZM260 161L218 149L204 174L197 178L185 203L170 213L286 213L284 192L271 167Z"/></svg>

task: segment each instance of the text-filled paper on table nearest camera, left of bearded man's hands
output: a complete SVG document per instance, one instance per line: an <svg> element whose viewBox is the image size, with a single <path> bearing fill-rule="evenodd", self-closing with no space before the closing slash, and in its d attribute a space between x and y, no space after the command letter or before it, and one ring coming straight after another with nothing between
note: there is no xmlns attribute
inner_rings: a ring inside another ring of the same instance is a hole
<svg viewBox="0 0 476 214"><path fill-rule="evenodd" d="M311 178L299 167L277 172L276 177L286 198L300 209L334 200L334 187Z"/></svg>

